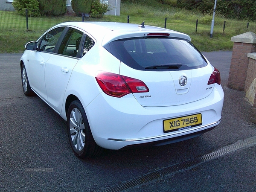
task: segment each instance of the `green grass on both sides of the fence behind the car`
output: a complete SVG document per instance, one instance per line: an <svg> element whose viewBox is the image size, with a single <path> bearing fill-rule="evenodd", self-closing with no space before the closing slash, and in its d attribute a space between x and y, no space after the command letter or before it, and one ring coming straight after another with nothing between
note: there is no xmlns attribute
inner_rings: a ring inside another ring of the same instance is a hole
<svg viewBox="0 0 256 192"><path fill-rule="evenodd" d="M23 52L24 44L28 41L37 40L43 32L55 24L66 21L81 21L81 17L26 17L18 15L16 12L0 11L0 52ZM113 21L127 22L127 15L130 15L129 23L140 24L145 21L145 25L164 27L164 20L167 18L166 28L184 32L191 37L191 41L200 51L232 50L233 42L231 37L247 31L256 32L256 23L248 21L227 20L215 16L215 26L213 38L210 38L212 16L202 15L195 12L178 10L170 6L141 6L138 4L121 4L121 16L105 15L100 19L87 19L90 21ZM196 20L198 20L197 32L195 31ZM223 32L224 21L226 21ZM26 30L26 26L29 30Z"/></svg>

